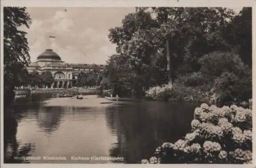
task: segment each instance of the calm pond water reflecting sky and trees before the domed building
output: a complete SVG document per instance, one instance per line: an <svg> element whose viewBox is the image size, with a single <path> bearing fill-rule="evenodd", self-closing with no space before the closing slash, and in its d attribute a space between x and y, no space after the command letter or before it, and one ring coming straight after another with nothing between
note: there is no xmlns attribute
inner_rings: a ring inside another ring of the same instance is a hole
<svg viewBox="0 0 256 168"><path fill-rule="evenodd" d="M32 94L5 111L5 163L140 163L189 132L197 106Z"/></svg>

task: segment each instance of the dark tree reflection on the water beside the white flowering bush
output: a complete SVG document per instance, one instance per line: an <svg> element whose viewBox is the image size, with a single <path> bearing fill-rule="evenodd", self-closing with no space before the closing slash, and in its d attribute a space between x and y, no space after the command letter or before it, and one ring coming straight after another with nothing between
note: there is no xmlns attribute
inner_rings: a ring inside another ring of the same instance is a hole
<svg viewBox="0 0 256 168"><path fill-rule="evenodd" d="M134 106L106 109L108 125L118 137L110 153L123 156L125 163L139 163L141 159L152 156L162 142L174 142L184 136L193 118L190 111L196 105L144 102Z"/></svg>

